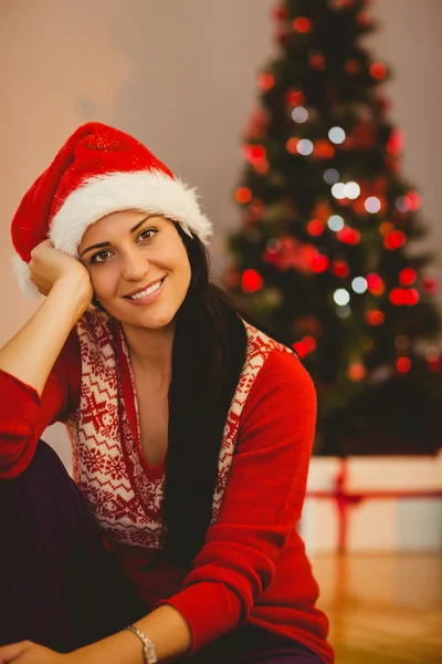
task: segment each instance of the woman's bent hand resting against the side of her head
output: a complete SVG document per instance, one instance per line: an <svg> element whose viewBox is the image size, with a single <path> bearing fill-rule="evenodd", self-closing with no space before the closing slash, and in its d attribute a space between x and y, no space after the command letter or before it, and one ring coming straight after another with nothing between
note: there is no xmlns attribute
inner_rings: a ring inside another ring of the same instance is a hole
<svg viewBox="0 0 442 664"><path fill-rule="evenodd" d="M44 240L31 251L29 270L31 281L42 295L49 295L55 283L69 281L85 297L93 297L87 269L78 259L54 249L51 240Z"/></svg>

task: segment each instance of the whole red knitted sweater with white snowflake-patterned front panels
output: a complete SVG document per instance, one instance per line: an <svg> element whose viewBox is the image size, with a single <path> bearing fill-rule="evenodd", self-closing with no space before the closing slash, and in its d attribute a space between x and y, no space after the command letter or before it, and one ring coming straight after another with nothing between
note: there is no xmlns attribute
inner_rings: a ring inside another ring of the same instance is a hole
<svg viewBox="0 0 442 664"><path fill-rule="evenodd" d="M148 562L159 546L167 458L139 444L134 381L119 325L86 314L42 396L0 371L0 478L29 465L42 432L64 422L74 479L145 602L175 606L199 650L244 622L334 661L328 622L296 523L314 436L313 383L298 359L246 326L246 361L227 418L212 523L191 569Z"/></svg>

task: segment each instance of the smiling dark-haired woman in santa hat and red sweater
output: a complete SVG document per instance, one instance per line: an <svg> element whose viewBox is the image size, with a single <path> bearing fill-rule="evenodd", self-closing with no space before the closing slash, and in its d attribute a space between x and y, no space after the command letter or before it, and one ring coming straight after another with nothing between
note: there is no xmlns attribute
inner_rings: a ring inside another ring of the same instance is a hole
<svg viewBox="0 0 442 664"><path fill-rule="evenodd" d="M296 531L314 387L210 283L210 234L98 123L15 214L15 271L46 298L0 353L0 664L333 662ZM55 421L75 485L40 440Z"/></svg>

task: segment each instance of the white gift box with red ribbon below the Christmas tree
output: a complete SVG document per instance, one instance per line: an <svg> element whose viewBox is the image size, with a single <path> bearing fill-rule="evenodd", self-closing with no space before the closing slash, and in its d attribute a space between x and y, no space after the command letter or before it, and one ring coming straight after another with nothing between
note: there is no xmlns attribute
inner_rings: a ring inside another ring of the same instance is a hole
<svg viewBox="0 0 442 664"><path fill-rule="evenodd" d="M442 454L313 457L301 533L309 552L442 551Z"/></svg>

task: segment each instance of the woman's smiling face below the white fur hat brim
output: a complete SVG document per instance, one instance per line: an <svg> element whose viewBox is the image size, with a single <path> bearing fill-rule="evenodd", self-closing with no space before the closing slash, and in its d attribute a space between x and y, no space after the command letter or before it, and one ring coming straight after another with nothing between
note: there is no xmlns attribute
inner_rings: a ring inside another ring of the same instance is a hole
<svg viewBox="0 0 442 664"><path fill-rule="evenodd" d="M171 323L190 284L189 259L175 225L146 212L113 212L90 226L78 258L98 302L137 328Z"/></svg>

